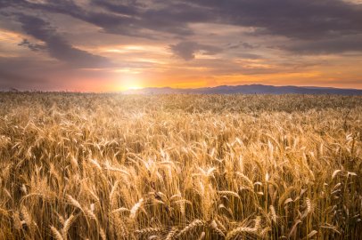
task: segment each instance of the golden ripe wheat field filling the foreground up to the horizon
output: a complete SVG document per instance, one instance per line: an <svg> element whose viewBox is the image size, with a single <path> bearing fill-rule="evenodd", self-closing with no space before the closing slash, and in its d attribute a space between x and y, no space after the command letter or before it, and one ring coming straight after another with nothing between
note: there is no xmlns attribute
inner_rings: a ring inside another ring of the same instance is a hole
<svg viewBox="0 0 362 240"><path fill-rule="evenodd" d="M362 96L0 93L0 239L360 239Z"/></svg>

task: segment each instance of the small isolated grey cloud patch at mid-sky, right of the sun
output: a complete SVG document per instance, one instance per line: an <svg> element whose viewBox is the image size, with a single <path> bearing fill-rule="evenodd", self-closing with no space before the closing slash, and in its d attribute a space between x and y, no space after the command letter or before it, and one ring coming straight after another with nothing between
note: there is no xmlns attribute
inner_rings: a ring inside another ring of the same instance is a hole
<svg viewBox="0 0 362 240"><path fill-rule="evenodd" d="M194 53L201 52L202 55L215 55L223 52L222 48L212 45L198 44L195 42L180 42L176 45L169 45L169 48L175 55L184 60L193 60Z"/></svg>

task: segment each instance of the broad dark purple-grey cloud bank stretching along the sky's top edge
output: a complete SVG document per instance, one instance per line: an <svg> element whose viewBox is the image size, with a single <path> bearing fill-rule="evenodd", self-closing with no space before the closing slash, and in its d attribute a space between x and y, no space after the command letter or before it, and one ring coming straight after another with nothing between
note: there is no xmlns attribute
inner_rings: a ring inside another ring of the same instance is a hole
<svg viewBox="0 0 362 240"><path fill-rule="evenodd" d="M3 0L4 1L4 0ZM276 35L319 39L362 33L362 4L341 0L217 0L92 1L84 9L73 1L50 0L47 4L22 5L60 12L93 23L104 32L150 37L149 29L192 36L190 23L221 23L255 28L254 36ZM100 10L105 10L100 11Z"/></svg>

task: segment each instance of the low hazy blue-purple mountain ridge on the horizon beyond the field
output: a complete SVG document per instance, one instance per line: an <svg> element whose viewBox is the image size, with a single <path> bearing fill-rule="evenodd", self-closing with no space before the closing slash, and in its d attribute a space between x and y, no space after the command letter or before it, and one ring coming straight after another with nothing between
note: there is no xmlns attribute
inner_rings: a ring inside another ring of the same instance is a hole
<svg viewBox="0 0 362 240"><path fill-rule="evenodd" d="M340 94L340 95L362 95L362 90L358 89L342 89L333 87L316 87L316 86L273 86L262 84L251 85L237 85L227 86L221 85L216 87L204 87L204 88L170 88L170 87L146 87L143 89L129 89L123 93L126 94L144 94L144 93L204 93L204 94L254 94L254 93L271 93L271 94L284 94L284 93L306 93L306 94Z"/></svg>

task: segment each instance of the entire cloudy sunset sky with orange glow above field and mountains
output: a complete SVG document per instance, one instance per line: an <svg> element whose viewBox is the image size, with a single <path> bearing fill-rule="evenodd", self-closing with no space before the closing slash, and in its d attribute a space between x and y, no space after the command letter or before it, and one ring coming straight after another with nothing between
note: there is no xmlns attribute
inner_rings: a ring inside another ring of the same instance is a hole
<svg viewBox="0 0 362 240"><path fill-rule="evenodd" d="M0 90L362 89L362 0L0 0Z"/></svg>

